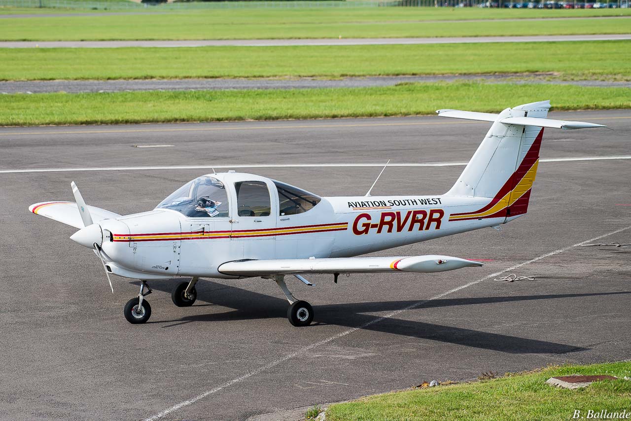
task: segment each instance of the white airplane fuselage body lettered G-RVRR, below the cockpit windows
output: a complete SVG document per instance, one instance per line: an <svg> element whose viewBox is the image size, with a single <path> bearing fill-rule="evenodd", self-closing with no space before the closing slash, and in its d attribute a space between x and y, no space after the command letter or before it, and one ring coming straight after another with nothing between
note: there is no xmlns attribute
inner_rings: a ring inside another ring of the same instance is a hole
<svg viewBox="0 0 631 421"><path fill-rule="evenodd" d="M309 211L285 216L278 215L276 198L269 216L212 218L156 209L100 222L102 248L117 275L235 278L220 273L218 266L241 259L352 257L512 219L449 220L489 201L445 195L331 197Z"/></svg>

